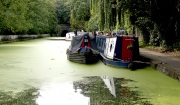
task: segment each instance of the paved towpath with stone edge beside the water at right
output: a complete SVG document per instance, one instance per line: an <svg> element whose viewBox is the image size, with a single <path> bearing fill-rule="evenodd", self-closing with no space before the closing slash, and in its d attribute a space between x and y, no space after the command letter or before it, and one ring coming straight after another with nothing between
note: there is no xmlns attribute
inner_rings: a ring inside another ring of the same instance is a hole
<svg viewBox="0 0 180 105"><path fill-rule="evenodd" d="M141 57L150 61L150 66L161 73L180 81L180 57L140 48Z"/></svg>

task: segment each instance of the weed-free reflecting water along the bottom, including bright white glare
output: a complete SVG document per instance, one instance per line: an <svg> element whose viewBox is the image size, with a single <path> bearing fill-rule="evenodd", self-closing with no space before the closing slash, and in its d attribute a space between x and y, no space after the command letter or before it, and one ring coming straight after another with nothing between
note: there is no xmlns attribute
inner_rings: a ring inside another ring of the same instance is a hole
<svg viewBox="0 0 180 105"><path fill-rule="evenodd" d="M138 87L125 86L129 82L134 81L91 76L68 84L31 88L15 95L1 91L0 105L152 105L147 99L141 98Z"/></svg>

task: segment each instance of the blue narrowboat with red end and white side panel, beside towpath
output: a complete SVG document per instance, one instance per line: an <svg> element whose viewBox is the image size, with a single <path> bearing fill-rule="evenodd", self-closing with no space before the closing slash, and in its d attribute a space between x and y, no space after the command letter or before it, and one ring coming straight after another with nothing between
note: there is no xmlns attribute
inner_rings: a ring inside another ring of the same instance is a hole
<svg viewBox="0 0 180 105"><path fill-rule="evenodd" d="M138 37L97 36L96 41L101 61L105 65L131 69L133 62L139 57Z"/></svg>

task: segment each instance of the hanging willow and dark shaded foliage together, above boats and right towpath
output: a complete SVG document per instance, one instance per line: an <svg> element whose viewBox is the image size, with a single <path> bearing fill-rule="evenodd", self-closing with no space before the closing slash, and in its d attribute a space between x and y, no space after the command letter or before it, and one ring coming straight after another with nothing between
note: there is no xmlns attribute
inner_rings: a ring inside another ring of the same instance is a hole
<svg viewBox="0 0 180 105"><path fill-rule="evenodd" d="M173 48L179 46L179 17L179 0L91 0L90 21L99 22L89 24L101 31L123 28L130 32L136 27L143 33L145 44Z"/></svg>

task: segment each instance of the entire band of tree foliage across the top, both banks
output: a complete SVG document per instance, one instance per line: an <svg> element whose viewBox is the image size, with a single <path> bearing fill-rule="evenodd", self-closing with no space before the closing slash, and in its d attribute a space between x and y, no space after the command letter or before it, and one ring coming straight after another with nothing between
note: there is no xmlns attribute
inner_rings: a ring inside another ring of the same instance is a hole
<svg viewBox="0 0 180 105"><path fill-rule="evenodd" d="M179 0L1 0L0 34L53 33L64 23L89 31L135 27L144 44L173 48L180 41L179 14Z"/></svg>

